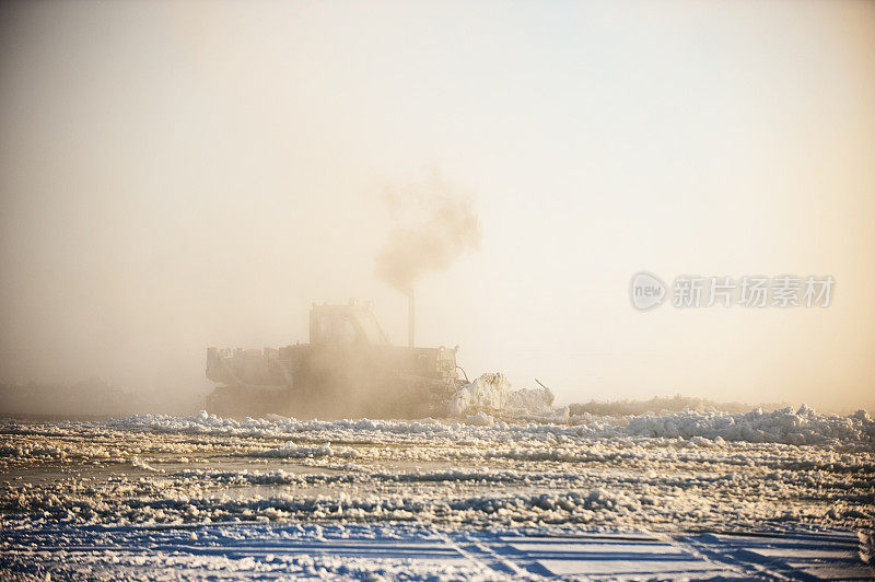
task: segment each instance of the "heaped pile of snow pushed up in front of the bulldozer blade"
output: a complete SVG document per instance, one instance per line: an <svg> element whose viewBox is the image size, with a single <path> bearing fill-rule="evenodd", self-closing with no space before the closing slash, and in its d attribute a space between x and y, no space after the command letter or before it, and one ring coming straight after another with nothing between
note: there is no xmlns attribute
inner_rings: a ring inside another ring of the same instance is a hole
<svg viewBox="0 0 875 582"><path fill-rule="evenodd" d="M450 416L482 410L537 415L550 411L552 404L547 388L513 389L504 374L487 373L459 388L450 401Z"/></svg>

